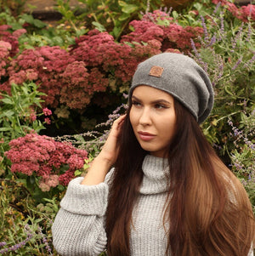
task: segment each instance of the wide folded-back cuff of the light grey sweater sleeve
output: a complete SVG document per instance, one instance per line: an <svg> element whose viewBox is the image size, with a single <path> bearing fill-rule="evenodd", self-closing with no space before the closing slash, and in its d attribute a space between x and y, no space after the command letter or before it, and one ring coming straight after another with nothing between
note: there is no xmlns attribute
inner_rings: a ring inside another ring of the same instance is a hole
<svg viewBox="0 0 255 256"><path fill-rule="evenodd" d="M105 215L108 201L108 185L81 185L83 178L72 179L67 187L61 208L82 215Z"/></svg>

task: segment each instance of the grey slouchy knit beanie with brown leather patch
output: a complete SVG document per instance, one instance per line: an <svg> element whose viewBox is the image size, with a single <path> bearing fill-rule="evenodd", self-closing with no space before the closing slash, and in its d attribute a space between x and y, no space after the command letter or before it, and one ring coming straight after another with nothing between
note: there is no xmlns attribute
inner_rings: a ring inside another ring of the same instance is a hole
<svg viewBox="0 0 255 256"><path fill-rule="evenodd" d="M140 63L133 75L129 101L133 89L139 85L149 85L173 95L199 123L212 111L213 89L210 79L195 60L184 54L157 54Z"/></svg>

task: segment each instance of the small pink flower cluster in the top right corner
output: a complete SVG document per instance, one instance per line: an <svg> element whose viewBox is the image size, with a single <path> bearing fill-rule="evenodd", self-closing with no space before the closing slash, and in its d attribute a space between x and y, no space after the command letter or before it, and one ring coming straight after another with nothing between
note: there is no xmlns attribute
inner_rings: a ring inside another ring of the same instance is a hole
<svg viewBox="0 0 255 256"><path fill-rule="evenodd" d="M255 20L255 5L248 4L237 8L235 3L230 3L227 0L212 0L212 3L221 3L222 6L226 6L231 14L233 14L237 19L244 22L248 21L248 17Z"/></svg>

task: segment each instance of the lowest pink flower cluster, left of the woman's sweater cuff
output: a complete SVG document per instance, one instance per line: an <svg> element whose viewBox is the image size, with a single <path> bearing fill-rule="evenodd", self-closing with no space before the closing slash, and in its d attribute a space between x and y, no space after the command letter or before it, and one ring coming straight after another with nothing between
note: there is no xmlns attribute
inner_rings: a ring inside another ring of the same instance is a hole
<svg viewBox="0 0 255 256"><path fill-rule="evenodd" d="M9 146L6 156L12 162L11 171L41 177L40 186L44 191L47 186L67 185L88 156L87 151L38 134L13 139Z"/></svg>

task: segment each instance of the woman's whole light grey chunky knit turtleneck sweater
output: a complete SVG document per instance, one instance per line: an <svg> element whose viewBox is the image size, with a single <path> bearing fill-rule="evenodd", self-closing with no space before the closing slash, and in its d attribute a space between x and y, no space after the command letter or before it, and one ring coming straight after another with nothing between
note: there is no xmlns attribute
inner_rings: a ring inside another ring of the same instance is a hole
<svg viewBox="0 0 255 256"><path fill-rule="evenodd" d="M144 179L133 208L131 256L163 256L166 252L167 236L163 225L166 168L167 161L163 158L145 156ZM68 185L52 228L54 247L61 255L97 256L105 250L105 211L113 171L107 174L105 183L99 185L81 185L83 178L73 179Z"/></svg>

